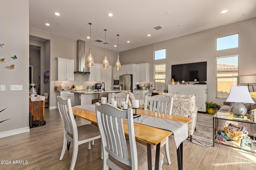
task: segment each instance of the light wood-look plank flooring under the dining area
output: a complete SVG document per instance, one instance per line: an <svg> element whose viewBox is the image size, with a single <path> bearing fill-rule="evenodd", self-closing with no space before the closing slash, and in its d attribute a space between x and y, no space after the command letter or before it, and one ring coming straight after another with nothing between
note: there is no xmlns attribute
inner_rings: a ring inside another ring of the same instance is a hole
<svg viewBox="0 0 256 170"><path fill-rule="evenodd" d="M45 110L46 125L31 128L30 132L0 139L0 170L68 170L72 158L72 144L59 160L63 144L63 127L57 109ZM76 117L77 125L90 123ZM6 121L7 123L7 121ZM176 170L177 156L173 137L170 137L168 165L164 158L163 170ZM164 149L161 149L164 154ZM6 164L7 162L10 164ZM14 161L14 162L13 162ZM20 161L20 162L16 162ZM23 162L22 162L23 161ZM15 164L16 163L16 164ZM79 145L75 170L101 170L100 140L91 150ZM184 170L255 170L256 155L224 145L210 149L184 141Z"/></svg>

